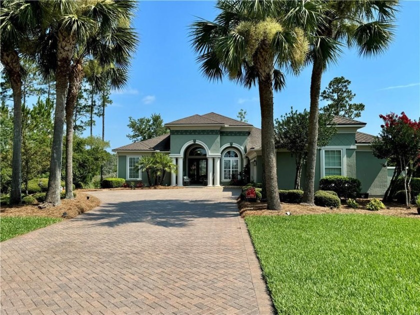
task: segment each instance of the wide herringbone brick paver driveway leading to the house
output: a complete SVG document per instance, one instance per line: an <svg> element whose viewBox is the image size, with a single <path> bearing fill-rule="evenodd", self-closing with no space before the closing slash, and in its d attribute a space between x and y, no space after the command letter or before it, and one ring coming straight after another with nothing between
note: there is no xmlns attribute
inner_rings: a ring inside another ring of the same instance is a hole
<svg viewBox="0 0 420 315"><path fill-rule="evenodd" d="M1 243L1 313L271 312L237 193L91 192L98 208Z"/></svg>

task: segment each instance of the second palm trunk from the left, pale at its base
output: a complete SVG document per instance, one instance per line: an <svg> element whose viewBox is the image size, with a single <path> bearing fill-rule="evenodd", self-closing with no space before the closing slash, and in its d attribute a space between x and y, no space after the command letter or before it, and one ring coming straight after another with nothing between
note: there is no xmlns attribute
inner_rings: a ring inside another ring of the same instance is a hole
<svg viewBox="0 0 420 315"><path fill-rule="evenodd" d="M65 99L68 86L70 60L73 56L75 37L64 30L58 32L57 71L55 75L55 114L52 137L51 162L45 203L40 207L59 205L62 163L62 136L64 129Z"/></svg>

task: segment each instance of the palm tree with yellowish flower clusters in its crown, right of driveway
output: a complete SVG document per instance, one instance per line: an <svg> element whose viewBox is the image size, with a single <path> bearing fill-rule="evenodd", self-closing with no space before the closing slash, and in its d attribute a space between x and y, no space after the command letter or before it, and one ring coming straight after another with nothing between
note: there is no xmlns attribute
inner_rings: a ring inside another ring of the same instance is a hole
<svg viewBox="0 0 420 315"><path fill-rule="evenodd" d="M284 86L280 69L298 72L308 42L304 30L315 24L318 5L312 1L224 1L214 22L191 25L191 42L204 76L230 80L251 88L258 85L262 155L268 209L280 209L274 148L273 90ZM304 18L303 18L304 17ZM306 20L305 23L301 21ZM302 29L299 26L304 26Z"/></svg>

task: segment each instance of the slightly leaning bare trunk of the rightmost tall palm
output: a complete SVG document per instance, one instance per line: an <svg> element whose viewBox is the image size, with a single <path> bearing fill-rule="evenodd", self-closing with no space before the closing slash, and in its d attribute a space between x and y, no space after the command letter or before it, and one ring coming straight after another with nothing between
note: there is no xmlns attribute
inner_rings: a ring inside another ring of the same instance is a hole
<svg viewBox="0 0 420 315"><path fill-rule="evenodd" d="M316 148L318 142L319 92L321 90L322 64L317 58L313 61L310 78L309 132L307 145L306 180L303 203L314 205L313 193L315 185Z"/></svg>

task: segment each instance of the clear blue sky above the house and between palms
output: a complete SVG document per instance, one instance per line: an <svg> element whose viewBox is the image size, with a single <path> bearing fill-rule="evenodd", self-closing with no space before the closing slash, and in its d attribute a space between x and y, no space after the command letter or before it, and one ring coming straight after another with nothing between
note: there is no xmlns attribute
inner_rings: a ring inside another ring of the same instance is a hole
<svg viewBox="0 0 420 315"><path fill-rule="evenodd" d="M354 102L366 108L359 120L367 122L360 131L379 132L380 113L401 112L420 116L420 2L401 1L396 37L385 54L362 58L345 50L338 65L322 76L321 90L335 76L351 80ZM212 1L143 1L138 5L134 25L140 37L133 56L131 77L124 90L113 92L113 104L106 109L105 138L111 148L130 143L126 134L128 116L160 113L165 122L195 113L214 111L232 118L239 109L260 126L258 90L247 90L227 79L212 83L195 63L188 42L188 25L195 16L213 20ZM311 68L299 76L287 75L286 88L274 94L274 117L294 109L309 108ZM98 119L94 134L101 134Z"/></svg>

